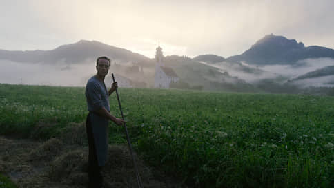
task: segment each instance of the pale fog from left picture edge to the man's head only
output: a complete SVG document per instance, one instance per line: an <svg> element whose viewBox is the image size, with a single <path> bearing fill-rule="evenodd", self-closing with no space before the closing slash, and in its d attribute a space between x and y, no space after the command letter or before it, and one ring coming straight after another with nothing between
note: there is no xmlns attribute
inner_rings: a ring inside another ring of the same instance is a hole
<svg viewBox="0 0 334 188"><path fill-rule="evenodd" d="M0 61L0 82L49 86L84 86L95 64L43 64Z"/></svg>

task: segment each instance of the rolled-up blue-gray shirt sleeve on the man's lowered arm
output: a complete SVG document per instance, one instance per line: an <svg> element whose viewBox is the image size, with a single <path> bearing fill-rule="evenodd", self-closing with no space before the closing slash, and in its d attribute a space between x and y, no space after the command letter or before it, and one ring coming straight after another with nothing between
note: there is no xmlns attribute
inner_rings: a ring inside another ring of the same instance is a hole
<svg viewBox="0 0 334 188"><path fill-rule="evenodd" d="M86 97L89 111L98 111L102 108L101 88L96 82L88 82L86 86Z"/></svg>

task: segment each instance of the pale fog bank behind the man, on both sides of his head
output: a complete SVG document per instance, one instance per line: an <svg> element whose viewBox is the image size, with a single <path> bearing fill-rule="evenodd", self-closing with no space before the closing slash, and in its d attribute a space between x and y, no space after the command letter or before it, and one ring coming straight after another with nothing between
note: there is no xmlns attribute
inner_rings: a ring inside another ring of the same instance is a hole
<svg viewBox="0 0 334 188"><path fill-rule="evenodd" d="M137 71L138 69L139 65L132 64L131 62L121 64L115 64L114 62L110 66L106 77L108 80L105 80L105 82L110 85L110 75L111 73L115 73L115 75L137 82L132 83L137 87L146 88L152 86L154 82L154 67L141 67L141 70ZM95 74L95 62L92 61L78 64L66 64L64 62L44 64L0 60L0 83L6 84L86 86L88 79ZM117 76L115 77L117 79ZM121 87L121 85L119 86Z"/></svg>

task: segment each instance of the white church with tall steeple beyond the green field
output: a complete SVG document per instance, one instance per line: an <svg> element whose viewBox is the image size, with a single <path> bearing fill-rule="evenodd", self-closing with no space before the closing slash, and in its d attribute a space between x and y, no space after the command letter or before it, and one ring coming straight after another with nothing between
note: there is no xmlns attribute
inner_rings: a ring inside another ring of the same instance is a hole
<svg viewBox="0 0 334 188"><path fill-rule="evenodd" d="M172 68L164 66L164 55L160 45L155 53L155 88L169 88L170 83L179 81Z"/></svg>

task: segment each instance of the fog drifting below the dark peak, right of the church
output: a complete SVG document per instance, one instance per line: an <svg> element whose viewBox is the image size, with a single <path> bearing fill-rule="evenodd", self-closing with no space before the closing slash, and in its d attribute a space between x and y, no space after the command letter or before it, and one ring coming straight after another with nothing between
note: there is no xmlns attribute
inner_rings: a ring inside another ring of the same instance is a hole
<svg viewBox="0 0 334 188"><path fill-rule="evenodd" d="M245 62L219 62L210 64L201 62L208 66L212 66L219 69L219 72L227 72L232 77L238 77L250 84L256 84L263 79L285 79L283 82L287 82L295 77L304 75L305 73L315 71L326 66L334 66L334 59L331 58L317 58L317 59L303 59L296 62L293 65L268 65L268 66L254 66L246 64ZM304 79L295 81L301 87L306 86L333 86L332 84L326 84L327 82L333 82L333 77L318 77L313 79ZM227 82L227 81L226 81ZM282 82L282 83L283 83Z"/></svg>

